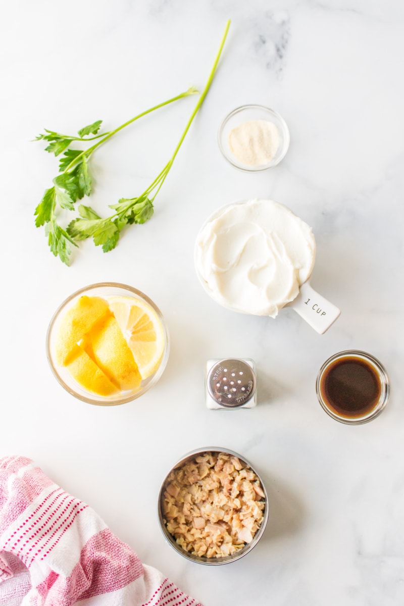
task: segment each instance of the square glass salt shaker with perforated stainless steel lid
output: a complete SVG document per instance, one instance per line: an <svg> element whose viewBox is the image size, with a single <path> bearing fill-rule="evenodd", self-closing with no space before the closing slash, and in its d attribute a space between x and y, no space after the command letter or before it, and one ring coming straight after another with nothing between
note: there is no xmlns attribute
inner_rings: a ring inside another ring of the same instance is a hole
<svg viewBox="0 0 404 606"><path fill-rule="evenodd" d="M250 358L208 360L206 405L211 410L256 406L257 378Z"/></svg>

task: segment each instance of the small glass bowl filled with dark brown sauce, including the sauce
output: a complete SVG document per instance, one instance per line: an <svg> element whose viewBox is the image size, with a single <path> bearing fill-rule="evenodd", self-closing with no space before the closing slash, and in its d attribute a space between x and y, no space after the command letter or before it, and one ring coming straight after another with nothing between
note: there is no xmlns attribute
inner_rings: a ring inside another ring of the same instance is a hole
<svg viewBox="0 0 404 606"><path fill-rule="evenodd" d="M372 421L390 393L383 365L365 351L347 350L328 358L316 381L317 398L329 416L349 425Z"/></svg>

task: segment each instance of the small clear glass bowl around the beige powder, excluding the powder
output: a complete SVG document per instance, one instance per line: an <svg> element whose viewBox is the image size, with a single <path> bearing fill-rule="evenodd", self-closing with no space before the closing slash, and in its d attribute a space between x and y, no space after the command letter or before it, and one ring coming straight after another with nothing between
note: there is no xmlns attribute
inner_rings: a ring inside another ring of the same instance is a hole
<svg viewBox="0 0 404 606"><path fill-rule="evenodd" d="M250 120L266 120L268 122L273 122L277 127L279 133L279 147L271 161L267 162L267 164L243 164L243 162L240 162L236 156L233 155L233 152L230 149L228 142L230 131L243 122ZM279 113L275 112L270 107L265 107L264 105L242 105L241 107L236 107L233 112L230 112L230 114L226 116L220 125L217 140L219 142L220 151L232 166L248 173L256 173L276 166L285 158L286 151L288 151L289 148L290 134L285 120Z"/></svg>

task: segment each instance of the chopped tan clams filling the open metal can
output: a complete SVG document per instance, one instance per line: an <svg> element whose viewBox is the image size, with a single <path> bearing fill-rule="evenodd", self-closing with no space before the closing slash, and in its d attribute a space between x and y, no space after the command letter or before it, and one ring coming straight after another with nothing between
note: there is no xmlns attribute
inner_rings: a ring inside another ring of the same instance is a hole
<svg viewBox="0 0 404 606"><path fill-rule="evenodd" d="M177 544L207 558L224 558L250 543L264 510L259 478L227 453L200 454L171 471L162 500Z"/></svg>

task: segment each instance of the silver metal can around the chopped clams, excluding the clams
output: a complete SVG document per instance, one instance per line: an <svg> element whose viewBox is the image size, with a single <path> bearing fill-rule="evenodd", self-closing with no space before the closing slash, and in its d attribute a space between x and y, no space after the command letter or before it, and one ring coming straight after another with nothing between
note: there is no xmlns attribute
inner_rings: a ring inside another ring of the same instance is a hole
<svg viewBox="0 0 404 606"><path fill-rule="evenodd" d="M177 544L176 539L174 539L173 535L168 532L167 526L165 525L165 522L164 522L164 513L162 510L162 499L164 496L165 485L167 484L167 478L170 475L171 471L173 471L177 467L182 467L182 465L184 465L188 461L191 461L197 455L205 454L208 452L209 453L226 453L226 454L231 454L231 455L239 458L240 461L242 461L243 463L248 465L248 467L250 467L250 469L254 471L254 473L256 474L257 478L260 481L260 485L262 487L263 493L265 494L265 509L263 510L262 522L260 524L260 527L256 531L256 533L254 534L253 541L251 541L251 543L245 544L244 547L242 547L239 551L236 551L236 553L234 553L233 555L225 556L224 558L206 558L205 556L194 556L192 553L185 551L185 549L183 549L182 547L180 547L180 545ZM191 452L185 454L184 457L182 459L180 459L180 461L178 461L173 467L171 467L170 471L168 471L167 476L165 476L164 482L162 482L162 485L161 485L161 488L159 491L159 497L157 500L157 516L159 518L160 528L161 528L162 533L164 534L164 537L165 537L166 541L168 542L168 544L171 545L171 547L173 547L173 549L177 553L179 553L183 558L190 560L191 562L196 562L196 564L205 564L208 566L219 566L222 564L230 564L230 562L236 562L236 560L239 560L240 558L245 556L247 553L250 553L250 551L256 546L257 542L263 535L263 531L265 530L265 527L268 522L268 514L269 514L268 494L267 494L267 490L265 489L265 486L263 484L262 478L260 478L259 474L254 469L253 465L251 465L251 463L249 463L247 461L247 459L245 459L240 454L234 452L233 450L228 450L228 448L217 448L217 447L198 448L197 450L192 450Z"/></svg>

